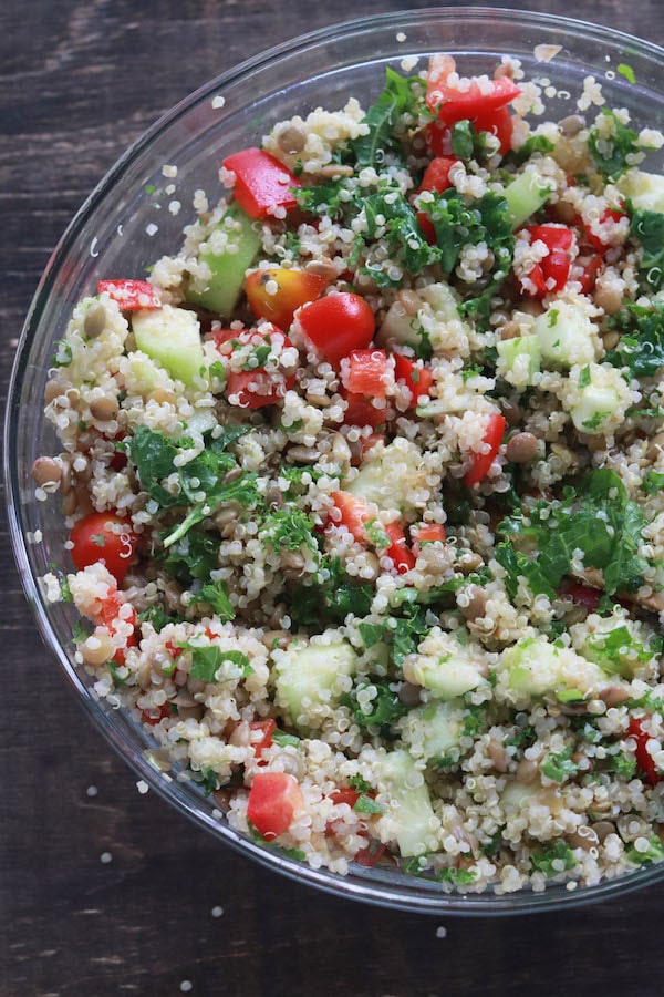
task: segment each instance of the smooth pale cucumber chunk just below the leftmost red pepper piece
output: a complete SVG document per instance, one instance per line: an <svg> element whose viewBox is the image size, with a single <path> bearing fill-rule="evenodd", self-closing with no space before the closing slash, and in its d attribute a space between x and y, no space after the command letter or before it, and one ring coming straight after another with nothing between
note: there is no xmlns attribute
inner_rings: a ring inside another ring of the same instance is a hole
<svg viewBox="0 0 664 997"><path fill-rule="evenodd" d="M190 388L201 377L205 358L194 311L172 305L135 311L132 330L138 349L157 360L173 378Z"/></svg>

